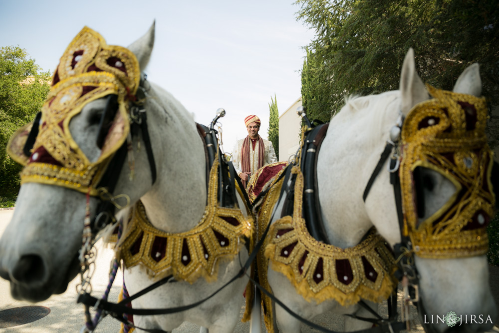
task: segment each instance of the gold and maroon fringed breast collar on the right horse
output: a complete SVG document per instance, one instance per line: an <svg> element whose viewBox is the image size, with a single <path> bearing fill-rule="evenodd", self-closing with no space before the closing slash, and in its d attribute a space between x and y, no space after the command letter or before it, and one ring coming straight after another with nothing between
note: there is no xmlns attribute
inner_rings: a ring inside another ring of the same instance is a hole
<svg viewBox="0 0 499 333"><path fill-rule="evenodd" d="M270 262L272 269L285 275L296 292L309 302L313 300L318 304L335 300L342 306L349 306L361 298L377 303L385 301L397 286L393 276L395 260L385 241L375 230L371 230L359 245L348 249L315 240L302 218L303 174L296 166L292 173L296 174L293 216L285 216L270 226L264 250L257 257L259 283L271 290L266 279ZM259 233L269 222L282 182L274 185L264 200L258 219ZM347 271L352 275L338 277L338 264L349 266ZM351 281L346 282L343 278ZM252 293L248 297L248 292L247 289L247 308L253 297ZM271 300L262 295L262 305L267 331L274 332ZM249 318L247 311L244 319Z"/></svg>

